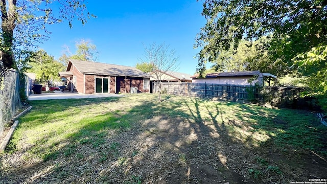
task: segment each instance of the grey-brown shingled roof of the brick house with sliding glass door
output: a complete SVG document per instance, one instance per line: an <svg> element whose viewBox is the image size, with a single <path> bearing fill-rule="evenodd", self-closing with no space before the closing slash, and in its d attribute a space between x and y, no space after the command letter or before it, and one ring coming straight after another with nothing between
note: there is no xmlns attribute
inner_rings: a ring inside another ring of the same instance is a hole
<svg viewBox="0 0 327 184"><path fill-rule="evenodd" d="M69 60L77 70L82 74L93 74L93 75L106 75L106 76L129 76L129 77L143 77L149 78L150 75L142 72L131 66L123 66L116 64L107 64L93 61L80 61L80 60ZM66 71L71 67L71 64L67 65Z"/></svg>

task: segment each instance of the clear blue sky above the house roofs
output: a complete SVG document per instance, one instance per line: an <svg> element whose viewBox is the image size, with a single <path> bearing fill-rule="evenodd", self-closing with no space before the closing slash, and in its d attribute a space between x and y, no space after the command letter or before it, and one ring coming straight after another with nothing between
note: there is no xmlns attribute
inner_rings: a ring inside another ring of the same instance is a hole
<svg viewBox="0 0 327 184"><path fill-rule="evenodd" d="M57 59L64 45L75 53L76 41L85 39L97 46L97 62L135 66L138 58L144 58L144 44L165 42L179 56L178 72L196 72L194 57L199 49L193 49L193 44L205 24L201 1L88 0L87 9L97 18L84 26L76 20L72 29L67 22L49 26L52 34L40 49Z"/></svg>

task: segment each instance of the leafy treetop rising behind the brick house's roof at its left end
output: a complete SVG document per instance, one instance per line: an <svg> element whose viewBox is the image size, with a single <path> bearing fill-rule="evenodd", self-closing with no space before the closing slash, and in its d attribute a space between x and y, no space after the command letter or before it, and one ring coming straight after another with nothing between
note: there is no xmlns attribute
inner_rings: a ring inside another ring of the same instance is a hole
<svg viewBox="0 0 327 184"><path fill-rule="evenodd" d="M99 51L97 46L90 41L81 39L76 42L76 53L72 54L69 48L66 47L65 53L59 57L59 61L63 64L67 64L69 59L76 59L82 61L96 61Z"/></svg>

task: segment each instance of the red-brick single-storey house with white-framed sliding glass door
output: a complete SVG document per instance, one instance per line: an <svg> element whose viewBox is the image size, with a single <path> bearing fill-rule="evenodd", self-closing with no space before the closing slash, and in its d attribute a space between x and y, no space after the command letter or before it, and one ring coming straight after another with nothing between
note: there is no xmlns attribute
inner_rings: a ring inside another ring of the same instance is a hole
<svg viewBox="0 0 327 184"><path fill-rule="evenodd" d="M69 60L66 71L59 72L68 81L68 90L81 94L148 93L150 75L134 67L92 61ZM134 88L135 87L135 88Z"/></svg>

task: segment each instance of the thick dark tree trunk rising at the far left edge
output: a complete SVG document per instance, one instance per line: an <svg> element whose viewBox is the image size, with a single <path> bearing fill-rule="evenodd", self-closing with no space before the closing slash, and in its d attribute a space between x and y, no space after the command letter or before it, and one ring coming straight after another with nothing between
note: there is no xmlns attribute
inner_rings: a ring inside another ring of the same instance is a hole
<svg viewBox="0 0 327 184"><path fill-rule="evenodd" d="M9 6L7 10L6 0L0 1L1 19L2 19L2 60L5 68L17 68L13 57L13 36L16 27L17 13L15 11L16 0L8 0Z"/></svg>

